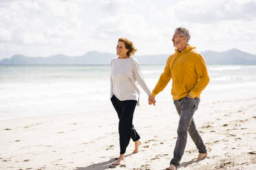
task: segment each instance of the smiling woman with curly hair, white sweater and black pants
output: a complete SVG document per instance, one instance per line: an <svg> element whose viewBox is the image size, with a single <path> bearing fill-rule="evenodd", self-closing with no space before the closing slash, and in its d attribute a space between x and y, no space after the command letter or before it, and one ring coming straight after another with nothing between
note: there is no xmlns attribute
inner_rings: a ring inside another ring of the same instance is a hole
<svg viewBox="0 0 256 170"><path fill-rule="evenodd" d="M116 46L118 58L111 60L110 97L118 113L120 144L120 156L113 165L120 165L120 162L124 160L124 154L130 138L132 138L135 143L134 154L138 152L138 147L141 144L139 141L140 136L134 129L132 123L134 110L136 105L138 105L140 95L137 82L142 89L145 90L147 95L151 95L140 73L138 62L134 58L131 58L136 51L137 49L130 40L127 38L119 38L118 45Z"/></svg>

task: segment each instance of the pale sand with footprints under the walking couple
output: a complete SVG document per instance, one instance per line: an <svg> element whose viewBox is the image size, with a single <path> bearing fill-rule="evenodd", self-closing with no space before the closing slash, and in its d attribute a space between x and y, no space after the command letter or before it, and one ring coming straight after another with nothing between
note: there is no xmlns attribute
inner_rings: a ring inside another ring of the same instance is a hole
<svg viewBox="0 0 256 170"><path fill-rule="evenodd" d="M256 169L256 90L253 93L204 95L195 123L208 149L198 151L188 137L178 169ZM241 97L242 95L242 97ZM215 97L213 97L215 96ZM156 98L157 99L157 98ZM136 108L134 125L141 136L138 154L130 141L125 162L119 154L114 109L0 121L0 169L165 169L173 156L178 114L173 101Z"/></svg>

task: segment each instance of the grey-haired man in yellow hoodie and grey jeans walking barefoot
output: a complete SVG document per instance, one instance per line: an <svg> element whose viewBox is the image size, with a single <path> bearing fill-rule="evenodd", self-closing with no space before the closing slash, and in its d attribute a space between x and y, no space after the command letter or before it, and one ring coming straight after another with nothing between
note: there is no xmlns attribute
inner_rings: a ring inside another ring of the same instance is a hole
<svg viewBox="0 0 256 170"><path fill-rule="evenodd" d="M180 165L180 160L186 147L187 132L198 148L198 160L206 157L206 147L202 138L195 128L193 114L198 109L200 93L209 83L209 75L206 69L204 58L195 51L195 47L188 44L190 39L189 30L183 27L175 29L173 35L173 53L167 60L164 72L158 80L149 97L149 104L155 104L155 97L173 79L171 95L173 103L180 116L178 124L178 138L173 152L173 159L170 162L169 170L175 170Z"/></svg>

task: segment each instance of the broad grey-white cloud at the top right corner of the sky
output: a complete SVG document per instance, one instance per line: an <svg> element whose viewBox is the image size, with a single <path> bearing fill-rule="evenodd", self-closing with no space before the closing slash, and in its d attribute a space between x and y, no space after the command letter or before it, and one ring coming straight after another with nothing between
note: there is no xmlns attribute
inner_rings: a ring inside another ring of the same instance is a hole
<svg viewBox="0 0 256 170"><path fill-rule="evenodd" d="M221 21L252 20L255 18L255 2L248 1L198 1L189 4L189 8L184 8L188 1L182 1L175 8L178 19L191 23L212 24Z"/></svg>

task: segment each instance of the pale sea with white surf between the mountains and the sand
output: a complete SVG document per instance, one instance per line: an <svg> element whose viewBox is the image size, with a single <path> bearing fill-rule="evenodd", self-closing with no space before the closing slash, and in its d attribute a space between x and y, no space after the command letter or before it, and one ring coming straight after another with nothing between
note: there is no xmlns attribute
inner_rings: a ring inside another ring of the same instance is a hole
<svg viewBox="0 0 256 170"><path fill-rule="evenodd" d="M140 65L153 90L164 65ZM209 65L204 95L256 86L256 65ZM0 119L104 110L109 100L109 65L0 66ZM140 103L147 104L141 90ZM171 101L171 82L159 101Z"/></svg>

